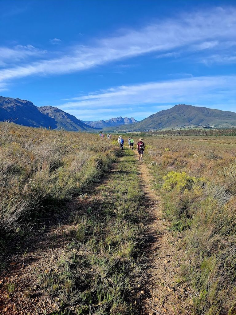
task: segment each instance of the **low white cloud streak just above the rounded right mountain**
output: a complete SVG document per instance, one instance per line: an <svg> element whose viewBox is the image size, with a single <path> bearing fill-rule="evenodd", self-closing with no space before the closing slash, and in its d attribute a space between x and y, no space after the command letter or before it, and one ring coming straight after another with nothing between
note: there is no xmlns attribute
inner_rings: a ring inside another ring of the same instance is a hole
<svg viewBox="0 0 236 315"><path fill-rule="evenodd" d="M130 112L137 112L139 116L147 116L152 106L166 106L166 104L214 104L227 105L228 100L236 100L236 76L190 77L178 80L149 82L137 85L118 86L102 93L91 93L75 97L59 108L70 113L88 113L117 111L129 106ZM85 112L84 112L85 111ZM124 112L124 115L129 113Z"/></svg>

